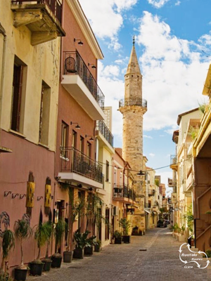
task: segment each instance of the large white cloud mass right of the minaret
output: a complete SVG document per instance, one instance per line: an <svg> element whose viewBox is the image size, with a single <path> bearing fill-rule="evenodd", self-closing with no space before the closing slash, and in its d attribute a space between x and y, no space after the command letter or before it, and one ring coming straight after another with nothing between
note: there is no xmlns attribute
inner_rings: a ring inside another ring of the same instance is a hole
<svg viewBox="0 0 211 281"><path fill-rule="evenodd" d="M177 38L169 25L148 12L143 13L136 41L143 46L143 98L147 95L148 100L143 129L168 127L166 132L172 133L177 115L198 106L209 64L201 61L196 43Z"/></svg>

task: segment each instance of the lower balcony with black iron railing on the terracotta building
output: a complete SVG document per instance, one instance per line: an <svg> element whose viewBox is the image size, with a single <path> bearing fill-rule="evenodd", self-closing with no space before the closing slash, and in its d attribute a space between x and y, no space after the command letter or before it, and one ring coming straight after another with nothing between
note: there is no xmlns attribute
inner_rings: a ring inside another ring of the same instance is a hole
<svg viewBox="0 0 211 281"><path fill-rule="evenodd" d="M61 181L75 181L94 188L103 188L102 166L75 148L60 148Z"/></svg>

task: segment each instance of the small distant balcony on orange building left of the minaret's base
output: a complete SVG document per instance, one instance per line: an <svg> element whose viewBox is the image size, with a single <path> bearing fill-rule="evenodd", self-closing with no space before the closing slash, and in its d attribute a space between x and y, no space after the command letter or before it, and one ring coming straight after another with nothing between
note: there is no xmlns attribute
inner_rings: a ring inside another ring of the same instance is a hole
<svg viewBox="0 0 211 281"><path fill-rule="evenodd" d="M114 185L113 200L127 204L134 204L136 201L136 193L127 187L127 185Z"/></svg>

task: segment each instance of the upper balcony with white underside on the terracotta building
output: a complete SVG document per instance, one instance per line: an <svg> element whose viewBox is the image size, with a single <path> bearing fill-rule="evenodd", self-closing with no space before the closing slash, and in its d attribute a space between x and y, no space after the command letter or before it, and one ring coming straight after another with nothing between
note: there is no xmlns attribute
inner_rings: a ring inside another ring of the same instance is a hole
<svg viewBox="0 0 211 281"><path fill-rule="evenodd" d="M64 52L61 84L93 120L105 119L104 95L77 51Z"/></svg>

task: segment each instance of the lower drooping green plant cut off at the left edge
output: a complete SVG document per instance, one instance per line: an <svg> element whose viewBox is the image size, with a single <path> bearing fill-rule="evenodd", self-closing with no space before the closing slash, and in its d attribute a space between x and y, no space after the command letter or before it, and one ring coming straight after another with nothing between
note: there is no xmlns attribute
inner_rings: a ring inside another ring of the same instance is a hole
<svg viewBox="0 0 211 281"><path fill-rule="evenodd" d="M4 262L6 261L8 254L12 249L14 249L14 247L15 247L15 235L13 231L8 229L4 230L2 236L2 243L1 243L1 249L2 249L1 271L3 271Z"/></svg>

